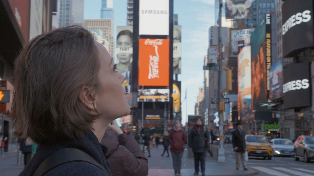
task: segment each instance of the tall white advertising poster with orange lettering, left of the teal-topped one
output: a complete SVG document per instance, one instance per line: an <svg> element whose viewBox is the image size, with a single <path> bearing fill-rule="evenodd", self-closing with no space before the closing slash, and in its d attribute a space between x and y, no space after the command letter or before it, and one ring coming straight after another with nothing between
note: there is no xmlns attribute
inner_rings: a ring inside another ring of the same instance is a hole
<svg viewBox="0 0 314 176"><path fill-rule="evenodd" d="M240 116L246 117L251 108L251 46L243 47L238 55L238 86Z"/></svg>

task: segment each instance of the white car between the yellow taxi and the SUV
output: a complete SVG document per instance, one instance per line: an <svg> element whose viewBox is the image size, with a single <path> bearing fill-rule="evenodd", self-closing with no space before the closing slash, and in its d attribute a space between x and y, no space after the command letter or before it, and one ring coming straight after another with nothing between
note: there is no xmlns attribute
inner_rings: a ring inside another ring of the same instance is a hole
<svg viewBox="0 0 314 176"><path fill-rule="evenodd" d="M272 139L271 146L273 148L273 155L294 155L294 145L290 139Z"/></svg>

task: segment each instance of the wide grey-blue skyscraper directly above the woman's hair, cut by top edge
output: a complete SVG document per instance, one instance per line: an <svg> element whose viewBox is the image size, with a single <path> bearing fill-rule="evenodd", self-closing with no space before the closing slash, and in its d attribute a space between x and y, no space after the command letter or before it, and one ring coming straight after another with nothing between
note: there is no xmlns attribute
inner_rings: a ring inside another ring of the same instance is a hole
<svg viewBox="0 0 314 176"><path fill-rule="evenodd" d="M59 0L59 27L84 24L84 0Z"/></svg>

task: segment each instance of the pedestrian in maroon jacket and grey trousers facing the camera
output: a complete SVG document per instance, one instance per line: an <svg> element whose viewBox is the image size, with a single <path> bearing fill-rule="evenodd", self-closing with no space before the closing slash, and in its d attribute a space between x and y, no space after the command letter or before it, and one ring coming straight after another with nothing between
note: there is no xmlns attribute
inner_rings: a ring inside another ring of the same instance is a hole
<svg viewBox="0 0 314 176"><path fill-rule="evenodd" d="M181 122L177 120L168 136L168 142L171 144L170 151L172 155L173 168L176 175L181 175L181 160L184 151L183 145L186 140L186 135L181 128Z"/></svg>

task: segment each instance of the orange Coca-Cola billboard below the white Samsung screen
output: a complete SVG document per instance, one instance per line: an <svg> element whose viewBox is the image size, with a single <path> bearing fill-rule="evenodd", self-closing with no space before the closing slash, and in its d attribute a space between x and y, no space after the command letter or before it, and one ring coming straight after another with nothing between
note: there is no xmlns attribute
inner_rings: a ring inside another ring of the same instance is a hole
<svg viewBox="0 0 314 176"><path fill-rule="evenodd" d="M169 85L169 39L139 39L138 85Z"/></svg>

